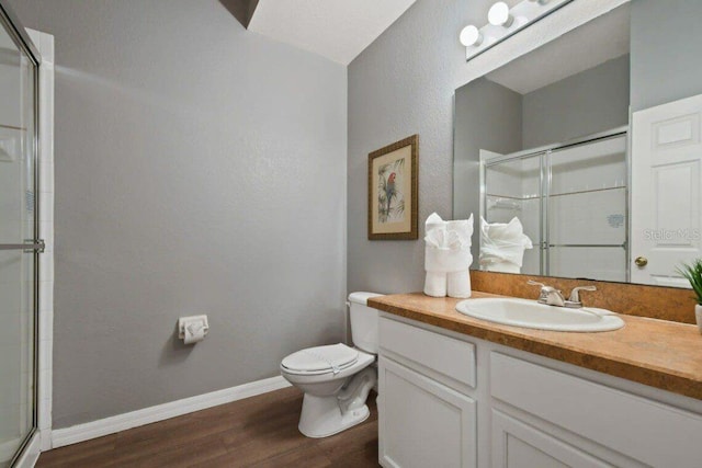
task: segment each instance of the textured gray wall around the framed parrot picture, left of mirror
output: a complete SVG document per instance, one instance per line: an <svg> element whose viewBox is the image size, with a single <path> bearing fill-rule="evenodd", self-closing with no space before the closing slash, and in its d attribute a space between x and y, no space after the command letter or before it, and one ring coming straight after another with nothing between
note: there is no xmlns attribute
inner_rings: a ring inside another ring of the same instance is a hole
<svg viewBox="0 0 702 468"><path fill-rule="evenodd" d="M452 215L453 94L466 72L458 33L489 0L418 0L349 66L348 289L421 289L423 221ZM416 241L369 241L367 155L419 134Z"/></svg>

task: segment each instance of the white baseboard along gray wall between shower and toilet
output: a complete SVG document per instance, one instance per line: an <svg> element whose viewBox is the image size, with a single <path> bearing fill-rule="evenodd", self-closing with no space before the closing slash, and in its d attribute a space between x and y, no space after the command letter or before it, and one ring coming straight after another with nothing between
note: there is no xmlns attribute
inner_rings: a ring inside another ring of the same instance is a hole
<svg viewBox="0 0 702 468"><path fill-rule="evenodd" d="M271 377L237 387L225 388L224 390L158 404L156 407L144 408L143 410L117 414L116 416L77 424L66 429L58 429L52 431L52 446L53 448L57 448L102 437L103 435L114 434L115 432L163 421L285 387L290 387L290 384L283 377Z"/></svg>

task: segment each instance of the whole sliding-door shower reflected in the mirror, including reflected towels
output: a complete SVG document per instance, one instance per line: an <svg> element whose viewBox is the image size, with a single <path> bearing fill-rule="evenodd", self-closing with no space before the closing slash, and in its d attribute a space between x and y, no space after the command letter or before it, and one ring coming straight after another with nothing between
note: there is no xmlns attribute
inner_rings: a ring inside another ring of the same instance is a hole
<svg viewBox="0 0 702 468"><path fill-rule="evenodd" d="M626 128L511 155L482 150L480 269L627 281L626 174Z"/></svg>

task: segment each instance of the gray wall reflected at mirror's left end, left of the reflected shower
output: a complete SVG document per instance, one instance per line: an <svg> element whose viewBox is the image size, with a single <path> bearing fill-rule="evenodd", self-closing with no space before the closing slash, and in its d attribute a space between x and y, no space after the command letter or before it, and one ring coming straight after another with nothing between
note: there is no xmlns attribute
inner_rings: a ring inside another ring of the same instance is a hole
<svg viewBox="0 0 702 468"><path fill-rule="evenodd" d="M522 95L486 78L456 90L453 163L453 216L466 219L480 214L480 149L501 155L522 149ZM478 259L479 243L473 244ZM473 262L477 267L477 261Z"/></svg>

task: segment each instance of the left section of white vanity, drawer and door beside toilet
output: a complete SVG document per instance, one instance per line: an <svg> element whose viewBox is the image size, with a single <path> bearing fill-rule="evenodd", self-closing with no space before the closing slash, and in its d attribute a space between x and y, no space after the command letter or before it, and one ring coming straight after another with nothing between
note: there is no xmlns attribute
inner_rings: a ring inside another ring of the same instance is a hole
<svg viewBox="0 0 702 468"><path fill-rule="evenodd" d="M386 319L380 333L381 465L476 467L476 401L460 390L475 383L473 344Z"/></svg>

